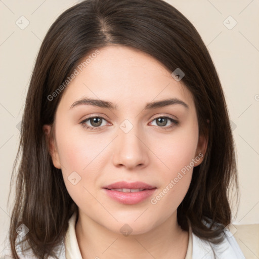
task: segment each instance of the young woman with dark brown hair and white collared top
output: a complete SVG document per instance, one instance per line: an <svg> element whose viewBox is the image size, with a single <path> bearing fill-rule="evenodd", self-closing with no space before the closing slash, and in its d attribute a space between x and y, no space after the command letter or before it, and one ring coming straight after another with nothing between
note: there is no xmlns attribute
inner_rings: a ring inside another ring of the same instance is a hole
<svg viewBox="0 0 259 259"><path fill-rule="evenodd" d="M237 176L221 83L169 4L87 0L61 14L21 136L13 258L245 258L226 228Z"/></svg>

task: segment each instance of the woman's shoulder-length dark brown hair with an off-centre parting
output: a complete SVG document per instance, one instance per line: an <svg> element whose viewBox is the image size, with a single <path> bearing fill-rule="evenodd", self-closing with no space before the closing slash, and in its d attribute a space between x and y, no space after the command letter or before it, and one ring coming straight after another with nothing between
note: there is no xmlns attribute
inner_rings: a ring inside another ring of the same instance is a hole
<svg viewBox="0 0 259 259"><path fill-rule="evenodd" d="M9 229L14 258L19 258L16 229L22 223L29 228L23 242L33 253L57 258L55 247L71 215L78 213L61 169L53 165L42 126L54 123L64 91L51 101L48 97L83 58L106 46L134 48L169 71L180 68L185 73L181 82L193 95L199 135L208 144L178 207L178 224L186 231L190 224L198 237L219 243L231 222L229 191L238 189L234 141L221 82L201 36L181 12L162 0L86 0L63 12L50 27L30 79L12 172L13 179L17 171Z"/></svg>

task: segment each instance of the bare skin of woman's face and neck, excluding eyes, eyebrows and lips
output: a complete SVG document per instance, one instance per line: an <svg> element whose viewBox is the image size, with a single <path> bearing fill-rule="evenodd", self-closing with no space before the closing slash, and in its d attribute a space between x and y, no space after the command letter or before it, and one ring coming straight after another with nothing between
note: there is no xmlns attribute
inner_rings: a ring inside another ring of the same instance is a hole
<svg viewBox="0 0 259 259"><path fill-rule="evenodd" d="M188 232L177 223L177 207L184 199L192 169L156 204L156 197L207 142L198 134L192 94L176 81L163 64L129 47L109 46L77 75L64 90L52 125L44 125L52 160L62 174L67 191L79 208L75 232L82 258L184 258ZM82 98L110 101L118 110L91 105L71 105ZM175 104L143 110L146 103L178 98L189 109ZM103 116L98 130L80 122L90 115ZM180 124L165 130L156 118L169 116ZM125 133L119 127L133 125ZM195 166L202 162L200 158ZM76 171L81 180L68 180ZM138 204L121 204L102 187L118 181L141 181L155 186L152 197ZM132 228L124 236L120 228ZM105 251L105 252L104 252ZM97 257L98 258L98 257Z"/></svg>

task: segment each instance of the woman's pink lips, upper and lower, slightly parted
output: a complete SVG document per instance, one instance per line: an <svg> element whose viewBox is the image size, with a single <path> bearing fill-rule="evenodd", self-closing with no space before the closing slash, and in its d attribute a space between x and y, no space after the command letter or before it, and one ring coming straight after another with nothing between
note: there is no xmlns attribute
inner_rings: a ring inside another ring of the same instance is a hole
<svg viewBox="0 0 259 259"><path fill-rule="evenodd" d="M105 186L103 188L105 193L109 197L123 204L137 204L141 201L144 201L145 199L150 197L156 189L156 187L150 186L142 182L134 182L134 183L117 182L117 183ZM116 189L116 188L146 189L146 190L143 190L140 192L119 192L119 191L110 190L110 189Z"/></svg>

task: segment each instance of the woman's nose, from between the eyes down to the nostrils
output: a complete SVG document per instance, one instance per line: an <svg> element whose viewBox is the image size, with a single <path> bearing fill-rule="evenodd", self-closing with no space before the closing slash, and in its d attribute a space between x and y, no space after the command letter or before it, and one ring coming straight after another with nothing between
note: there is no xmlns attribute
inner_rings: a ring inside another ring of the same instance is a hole
<svg viewBox="0 0 259 259"><path fill-rule="evenodd" d="M118 137L113 143L113 164L116 167L125 167L126 169L140 169L147 166L148 148L143 134L133 126L130 132L123 132L118 128Z"/></svg>

